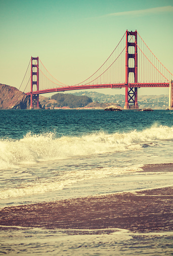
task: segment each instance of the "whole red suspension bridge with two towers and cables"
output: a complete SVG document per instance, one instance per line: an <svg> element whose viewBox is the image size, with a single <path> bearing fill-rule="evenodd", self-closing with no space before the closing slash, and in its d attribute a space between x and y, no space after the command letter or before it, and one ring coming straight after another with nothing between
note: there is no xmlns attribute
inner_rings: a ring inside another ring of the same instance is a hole
<svg viewBox="0 0 173 256"><path fill-rule="evenodd" d="M30 67L30 69L29 69ZM173 108L173 75L136 31L127 31L103 65L84 81L66 85L54 78L38 57L31 57L19 89L30 95L30 108L39 108L39 94L93 88L125 88L124 109L138 109L138 88L169 87Z"/></svg>

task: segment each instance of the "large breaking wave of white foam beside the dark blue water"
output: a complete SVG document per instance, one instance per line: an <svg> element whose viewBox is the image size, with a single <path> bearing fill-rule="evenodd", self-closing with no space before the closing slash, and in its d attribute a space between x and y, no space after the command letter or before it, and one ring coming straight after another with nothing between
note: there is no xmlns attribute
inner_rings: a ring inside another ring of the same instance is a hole
<svg viewBox="0 0 173 256"><path fill-rule="evenodd" d="M20 164L51 159L94 155L108 152L139 150L143 143L173 139L173 127L152 126L142 132L56 138L54 133L28 133L20 140L0 141L0 169L17 168ZM152 145L152 144L150 144ZM154 145L154 144L153 144Z"/></svg>

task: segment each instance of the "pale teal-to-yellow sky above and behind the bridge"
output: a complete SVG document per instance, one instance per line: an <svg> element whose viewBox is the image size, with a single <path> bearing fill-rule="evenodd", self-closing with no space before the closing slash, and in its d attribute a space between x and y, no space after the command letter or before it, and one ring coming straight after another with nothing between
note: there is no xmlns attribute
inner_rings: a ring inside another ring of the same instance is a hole
<svg viewBox="0 0 173 256"><path fill-rule="evenodd" d="M126 29L137 29L173 73L173 0L0 0L0 24L0 83L16 88L31 56L39 56L62 83L83 81L103 64ZM168 94L168 89L141 88L139 94Z"/></svg>

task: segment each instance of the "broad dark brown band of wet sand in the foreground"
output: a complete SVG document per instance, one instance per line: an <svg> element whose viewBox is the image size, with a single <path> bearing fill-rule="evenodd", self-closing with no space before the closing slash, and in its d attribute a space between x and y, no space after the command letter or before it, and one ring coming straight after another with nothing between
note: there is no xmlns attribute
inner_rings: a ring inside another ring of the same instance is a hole
<svg viewBox="0 0 173 256"><path fill-rule="evenodd" d="M0 229L173 230L173 186L0 209ZM10 227L11 226L11 227Z"/></svg>

